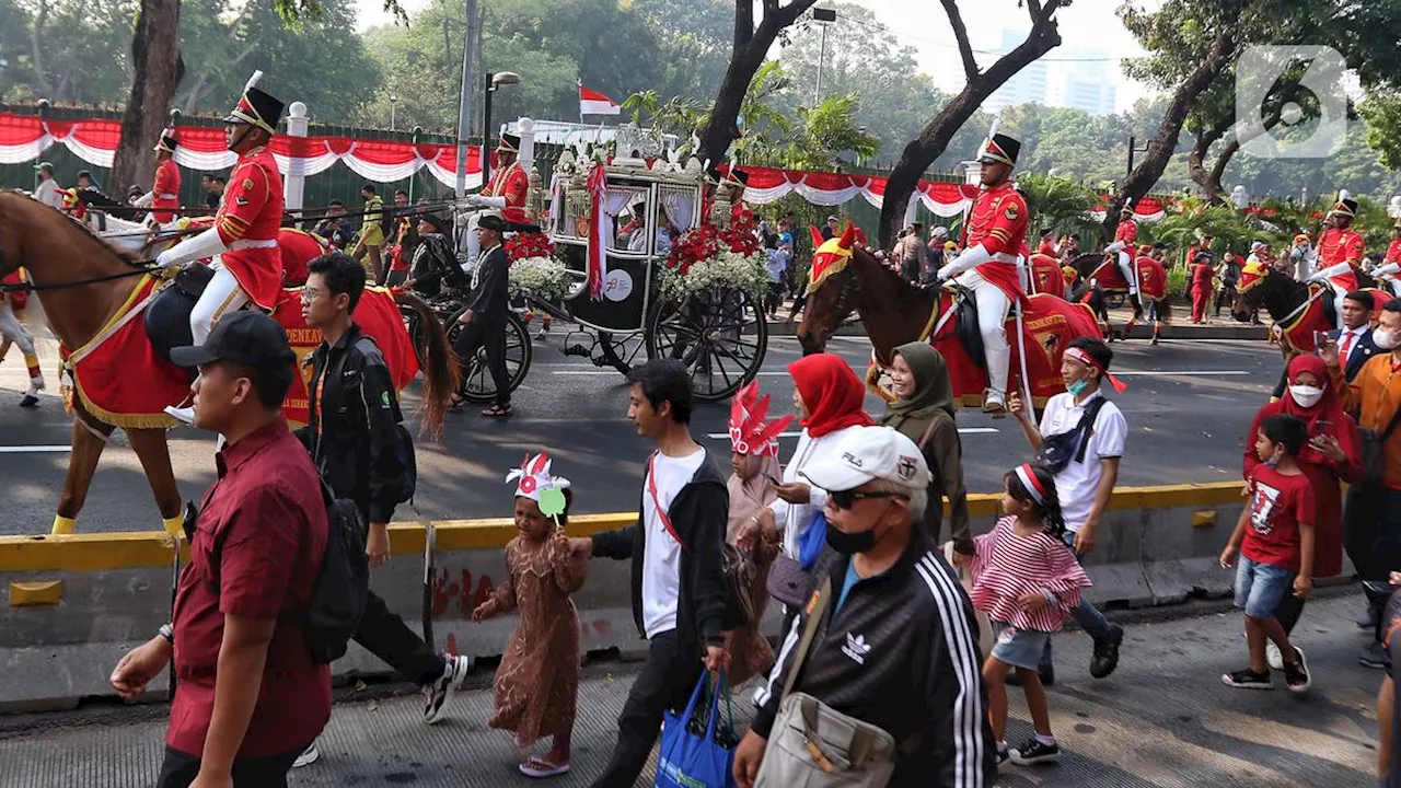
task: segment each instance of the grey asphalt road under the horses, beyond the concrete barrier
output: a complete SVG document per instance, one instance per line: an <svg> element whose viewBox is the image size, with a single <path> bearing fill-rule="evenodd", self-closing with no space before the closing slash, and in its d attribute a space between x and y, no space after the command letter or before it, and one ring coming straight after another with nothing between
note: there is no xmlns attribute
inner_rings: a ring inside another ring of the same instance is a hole
<svg viewBox="0 0 1401 788"><path fill-rule="evenodd" d="M576 512L618 512L637 506L642 461L649 446L626 419L626 386L611 369L560 352L563 332L537 342L535 363L514 398L509 422L481 418L479 408L450 415L441 443L417 446L419 494L415 509L396 519L464 519L510 512L506 473L527 451L548 449L555 471L573 480ZM1128 456L1119 484L1209 482L1240 473L1241 435L1254 411L1278 380L1278 351L1262 341L1168 341L1156 348L1133 341L1117 344L1114 370L1129 384L1115 395L1129 422ZM870 345L863 337L838 337L829 349L863 370ZM773 394L775 412L790 412L792 380L785 367L800 356L792 337L772 337L759 373ZM0 363L0 489L7 502L0 534L46 533L67 467L71 421L64 415L52 374L56 352L41 348L49 391L41 407L21 409L27 386L17 351ZM140 374L133 372L133 384ZM406 408L416 394L410 390ZM873 414L884 409L867 398ZM727 405L700 407L693 432L716 453L729 451ZM1002 474L1028 457L1021 430L1012 419L995 421L962 411L964 475L972 492L1000 488ZM191 428L171 432L171 456L181 492L195 498L213 480L213 437ZM782 457L792 453L796 432L783 439ZM136 454L118 433L98 466L80 531L160 527L150 488Z"/></svg>

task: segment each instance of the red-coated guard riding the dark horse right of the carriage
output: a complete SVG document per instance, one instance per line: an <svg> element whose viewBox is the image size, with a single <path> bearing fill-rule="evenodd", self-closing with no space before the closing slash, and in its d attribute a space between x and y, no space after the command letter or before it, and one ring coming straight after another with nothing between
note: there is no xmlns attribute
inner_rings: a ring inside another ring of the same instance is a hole
<svg viewBox="0 0 1401 788"><path fill-rule="evenodd" d="M988 359L988 390L984 412L1000 414L1007 402L1007 372L1012 345L1005 324L1007 310L1020 301L1021 275L1017 255L1027 240L1027 201L1012 184L1021 143L993 133L984 144L978 163L982 188L964 224L964 252L939 269L939 279L954 279L972 292L978 306L978 330Z"/></svg>

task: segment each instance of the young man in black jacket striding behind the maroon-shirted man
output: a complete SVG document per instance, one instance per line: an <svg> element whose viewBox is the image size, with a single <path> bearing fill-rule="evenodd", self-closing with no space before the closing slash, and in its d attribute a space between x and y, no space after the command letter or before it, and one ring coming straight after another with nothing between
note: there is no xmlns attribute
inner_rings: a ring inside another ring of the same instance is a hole
<svg viewBox="0 0 1401 788"><path fill-rule="evenodd" d="M366 271L345 252L331 252L307 265L301 315L321 331L311 365L308 423L297 436L311 451L317 471L336 498L356 502L370 524L366 552L370 566L389 559L388 522L406 499L406 451L410 437L401 429L399 400L389 367L374 339L350 314L364 292ZM371 589L354 639L405 677L429 687L425 721L439 719L443 705L469 669L465 656L441 656L391 613Z"/></svg>

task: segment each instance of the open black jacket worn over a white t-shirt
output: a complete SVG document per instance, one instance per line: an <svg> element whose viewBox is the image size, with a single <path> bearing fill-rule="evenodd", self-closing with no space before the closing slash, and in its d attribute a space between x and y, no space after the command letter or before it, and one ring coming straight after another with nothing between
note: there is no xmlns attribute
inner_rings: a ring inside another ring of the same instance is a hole
<svg viewBox="0 0 1401 788"><path fill-rule="evenodd" d="M647 495L646 488L642 495ZM699 653L702 645L724 644L724 631L720 630L726 600L722 552L730 522L730 491L709 453L691 481L677 492L667 508L667 516L682 541L677 635L682 648L695 648ZM646 638L642 621L642 557L647 551L647 527L643 523L642 501L637 502L636 523L594 534L593 538L595 557L619 561L632 558L632 617L637 623L637 632Z"/></svg>

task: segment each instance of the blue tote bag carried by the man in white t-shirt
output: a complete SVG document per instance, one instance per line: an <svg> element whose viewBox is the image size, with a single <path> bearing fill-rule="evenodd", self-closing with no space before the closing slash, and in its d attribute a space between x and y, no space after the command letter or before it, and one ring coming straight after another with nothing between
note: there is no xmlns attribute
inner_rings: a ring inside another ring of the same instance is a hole
<svg viewBox="0 0 1401 788"><path fill-rule="evenodd" d="M724 695L726 707L730 705L730 688L724 683L724 672L720 673L719 691L710 701L705 732L699 731L699 725L692 725L696 702L709 681L710 673L702 673L695 691L691 693L686 709L679 715L670 711L665 714L667 722L661 731L661 756L657 760L656 788L738 788L734 781L734 746L722 743L726 739L734 739L733 709L727 735L717 736L720 695Z"/></svg>

